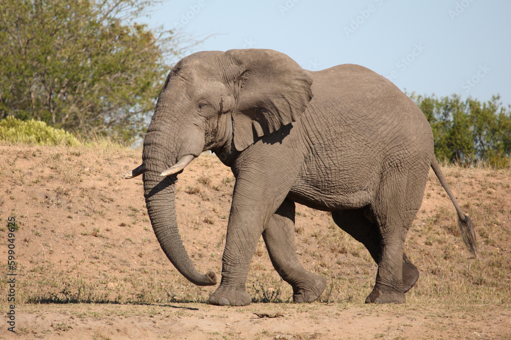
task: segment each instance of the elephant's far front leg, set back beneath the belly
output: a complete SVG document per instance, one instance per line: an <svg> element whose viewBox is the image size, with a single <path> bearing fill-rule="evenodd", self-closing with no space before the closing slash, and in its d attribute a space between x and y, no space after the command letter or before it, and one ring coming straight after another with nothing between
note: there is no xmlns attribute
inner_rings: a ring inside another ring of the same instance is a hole
<svg viewBox="0 0 511 340"><path fill-rule="evenodd" d="M327 285L322 276L304 269L296 256L293 201L284 200L263 231L271 263L282 279L293 287L293 302L316 300Z"/></svg>

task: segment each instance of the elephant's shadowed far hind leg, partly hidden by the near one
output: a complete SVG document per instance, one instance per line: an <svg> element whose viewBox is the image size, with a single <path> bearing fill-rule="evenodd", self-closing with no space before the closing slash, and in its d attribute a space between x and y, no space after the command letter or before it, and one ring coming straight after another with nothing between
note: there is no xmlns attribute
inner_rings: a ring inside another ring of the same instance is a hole
<svg viewBox="0 0 511 340"><path fill-rule="evenodd" d="M381 236L378 225L367 219L367 207L332 213L334 222L355 240L362 243L378 264L381 259ZM419 270L403 253L403 292L408 292L419 279Z"/></svg>

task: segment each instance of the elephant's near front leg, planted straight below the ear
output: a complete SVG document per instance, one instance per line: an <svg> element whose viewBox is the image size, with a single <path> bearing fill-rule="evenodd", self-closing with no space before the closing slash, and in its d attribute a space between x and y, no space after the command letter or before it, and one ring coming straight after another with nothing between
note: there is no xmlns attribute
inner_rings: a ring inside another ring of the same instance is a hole
<svg viewBox="0 0 511 340"><path fill-rule="evenodd" d="M233 166L236 184L222 280L210 296L211 304L240 306L251 302L245 291L250 261L261 233L291 190L303 163L303 156L294 149L296 143L292 147L287 144L258 142L244 150Z"/></svg>

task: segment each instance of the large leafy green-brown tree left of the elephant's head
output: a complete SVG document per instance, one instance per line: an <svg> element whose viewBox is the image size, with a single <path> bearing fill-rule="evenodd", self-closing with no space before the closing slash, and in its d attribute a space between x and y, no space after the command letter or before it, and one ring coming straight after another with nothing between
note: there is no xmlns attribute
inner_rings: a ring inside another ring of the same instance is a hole
<svg viewBox="0 0 511 340"><path fill-rule="evenodd" d="M0 115L130 140L176 55L149 0L0 0Z"/></svg>

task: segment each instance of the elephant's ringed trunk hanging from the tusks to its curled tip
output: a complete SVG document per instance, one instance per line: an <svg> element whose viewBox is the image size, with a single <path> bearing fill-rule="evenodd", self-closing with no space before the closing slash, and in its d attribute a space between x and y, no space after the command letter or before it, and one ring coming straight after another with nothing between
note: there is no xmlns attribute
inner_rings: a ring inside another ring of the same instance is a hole
<svg viewBox="0 0 511 340"><path fill-rule="evenodd" d="M161 177L160 173L166 169L162 163L154 158L144 159L144 196L156 238L174 267L185 278L197 285L214 285L217 283L215 273L209 271L205 275L200 274L184 249L176 221L176 177Z"/></svg>

